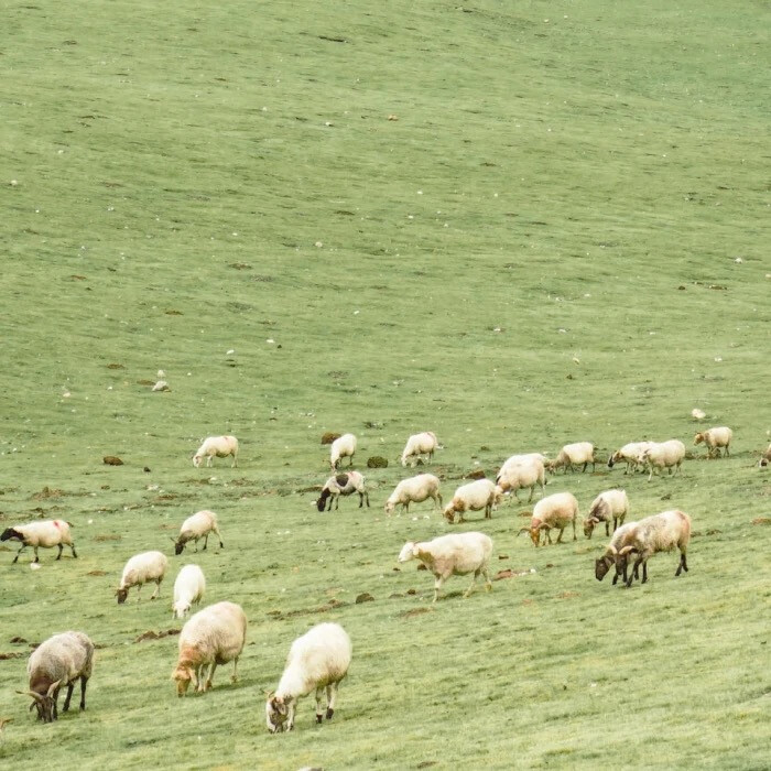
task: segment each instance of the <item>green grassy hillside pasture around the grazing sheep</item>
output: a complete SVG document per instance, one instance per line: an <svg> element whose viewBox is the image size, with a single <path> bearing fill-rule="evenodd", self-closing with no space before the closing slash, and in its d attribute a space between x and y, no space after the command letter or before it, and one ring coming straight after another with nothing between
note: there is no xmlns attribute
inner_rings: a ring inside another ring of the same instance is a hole
<svg viewBox="0 0 771 771"><path fill-rule="evenodd" d="M66 519L79 558L42 550L33 572L0 546L0 765L768 768L770 15L4 3L0 526ZM695 406L734 428L729 458L691 446ZM424 430L445 500L515 452L683 439L681 476L600 463L546 490L687 511L689 573L658 555L645 586L598 584L601 530L536 550L513 501L386 518ZM371 509L312 507L327 431L357 434ZM193 468L221 433L239 467ZM159 601L118 606L126 560L172 555L204 508L225 549L170 556ZM432 606L397 555L464 529L515 577L468 599L454 578ZM177 699L176 637L138 638L180 628L193 561L205 602L250 626L240 682L225 666ZM322 620L354 642L335 718L314 725L310 697L270 736L265 692ZM88 708L37 724L14 691L30 643L65 629L98 645Z"/></svg>

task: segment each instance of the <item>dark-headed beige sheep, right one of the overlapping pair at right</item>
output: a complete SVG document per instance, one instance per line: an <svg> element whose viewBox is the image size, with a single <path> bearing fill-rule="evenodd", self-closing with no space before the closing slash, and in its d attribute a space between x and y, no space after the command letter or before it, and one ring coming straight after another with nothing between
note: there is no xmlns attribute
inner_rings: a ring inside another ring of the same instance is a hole
<svg viewBox="0 0 771 771"><path fill-rule="evenodd" d="M680 562L675 571L677 577L683 571L688 572L685 558L691 540L691 517L677 509L662 511L660 514L647 517L640 520L627 534L625 545L616 554L616 573L623 572L627 576L627 564L631 554L637 554L634 571L627 580L627 586L638 576L638 569L642 565L642 583L648 580L648 561L656 552L671 552L680 550Z"/></svg>

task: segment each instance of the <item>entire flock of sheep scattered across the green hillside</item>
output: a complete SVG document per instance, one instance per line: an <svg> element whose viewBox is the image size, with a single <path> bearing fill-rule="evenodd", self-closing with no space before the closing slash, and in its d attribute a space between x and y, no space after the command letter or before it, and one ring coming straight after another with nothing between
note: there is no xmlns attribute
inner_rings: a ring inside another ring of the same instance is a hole
<svg viewBox="0 0 771 771"><path fill-rule="evenodd" d="M730 428L721 426L696 434L694 444L704 443L707 456L728 455L732 439ZM344 434L332 443L329 463L333 476L327 479L316 501L319 511L329 510L339 498L358 493L359 507L365 502L369 507L369 493L366 489L365 477L350 468L347 473L339 470L343 458L348 458L352 466L357 441L354 434ZM401 456L402 466L414 466L422 459L431 460L439 447L436 435L424 432L411 436ZM202 463L211 466L215 457L232 457L232 466L238 464L238 441L234 436L211 436L204 441L193 464L199 467ZM661 473L669 469L676 473L685 458L685 446L678 439L663 443L637 442L627 444L612 453L608 466L626 463L625 474L638 469L649 471L649 480L654 470ZM771 459L771 446L763 454L762 460ZM589 464L595 465L595 448L589 442L565 445L554 459L549 459L541 453L529 453L511 456L501 466L496 481L477 479L461 485L455 491L449 503L444 508L444 517L449 523L464 520L468 511L485 511L485 518L501 503L504 496L513 495L519 500L519 490L530 490L532 500L535 487L543 493L546 471L563 473L580 467L586 470ZM388 497L384 511L392 514L398 506L402 511L409 511L410 503L432 499L434 506L442 507L439 480L432 474L419 474L400 481ZM625 490L612 489L600 492L593 501L588 515L584 519L583 528L587 537L591 537L594 529L605 523L606 535L612 536L601 557L595 563L595 575L601 580L611 567L616 574L613 584L621 577L627 586L639 578L642 567L642 583L648 580L648 561L662 551L680 550L680 562L675 575L688 569L686 553L691 536L691 518L678 510L664 511L648 517L638 522L625 523L629 513L629 499ZM576 523L578 520L578 502L571 492L557 492L542 497L533 508L530 524L522 528L535 546L541 543L552 543L552 531L557 531L556 543L560 543L565 529L571 525L573 540L576 540ZM222 537L213 511L199 511L187 518L174 541L176 555L183 553L187 543L196 546L203 539L206 550L208 537L215 534L222 546ZM26 547L34 551L34 563L39 562L39 549L58 547L56 560L61 560L63 547L70 549L73 557L77 557L72 539L70 524L64 520L40 521L8 528L1 535L1 541L14 540L21 543L13 562ZM433 573L434 598L438 599L444 583L453 575L471 575L471 584L465 596L474 589L476 580L482 576L487 589L492 585L489 576L489 561L492 554L492 540L481 532L450 533L435 537L432 541L404 544L399 562L419 560ZM632 562L633 560L633 562ZM631 572L630 568L631 567ZM160 551L150 551L132 556L126 564L116 589L119 604L128 598L129 590L137 587L137 598L144 584L155 584L151 596L154 599L161 589L169 560ZM182 567L174 583L173 615L185 618L193 605L200 604L206 591L206 579L199 566L188 564ZM217 602L196 612L184 625L178 640L178 659L172 678L176 681L177 694L184 696L191 683L197 692L211 687L215 670L218 665L234 662L234 682L237 678L238 659L243 650L247 632L247 618L239 605L235 602ZM265 703L265 723L270 731L290 730L294 726L297 699L315 692L316 719L322 723L324 717L332 718L335 709L337 687L346 676L351 660L351 642L346 631L337 623L319 623L304 636L297 638L289 653L286 666L275 692L268 696ZM68 631L55 634L37 647L28 662L29 688L24 693L33 698L30 709L37 709L37 717L44 721L57 718L57 701L59 691L66 686L67 693L64 710L69 708L73 689L80 681L80 709L86 708L86 685L91 675L94 661L94 643L83 632ZM322 707L323 696L326 695L326 709Z"/></svg>

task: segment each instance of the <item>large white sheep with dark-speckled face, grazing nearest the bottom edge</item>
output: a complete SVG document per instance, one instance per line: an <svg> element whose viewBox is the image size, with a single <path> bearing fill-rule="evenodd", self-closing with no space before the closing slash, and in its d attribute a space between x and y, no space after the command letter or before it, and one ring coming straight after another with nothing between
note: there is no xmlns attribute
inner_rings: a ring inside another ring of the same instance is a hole
<svg viewBox="0 0 771 771"><path fill-rule="evenodd" d="M335 714L337 688L348 674L352 647L339 623L318 623L290 648L279 687L268 695L265 723L271 734L294 728L297 701L316 691L316 723L324 719L322 693L326 692L326 718Z"/></svg>

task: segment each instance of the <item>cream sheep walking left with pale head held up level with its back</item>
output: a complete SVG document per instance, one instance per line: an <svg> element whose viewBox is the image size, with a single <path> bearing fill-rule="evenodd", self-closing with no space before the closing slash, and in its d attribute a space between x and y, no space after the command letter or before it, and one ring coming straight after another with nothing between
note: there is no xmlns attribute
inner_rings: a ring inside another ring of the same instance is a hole
<svg viewBox="0 0 771 771"><path fill-rule="evenodd" d="M492 541L485 533L452 533L439 535L433 541L408 541L399 554L399 562L409 562L416 557L434 574L436 580L432 601L436 602L442 585L453 575L474 574L471 585L464 593L464 597L471 594L480 573L487 582L487 590L492 589L488 573L490 554Z"/></svg>

